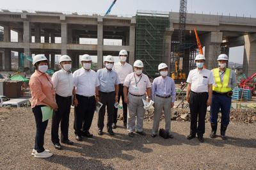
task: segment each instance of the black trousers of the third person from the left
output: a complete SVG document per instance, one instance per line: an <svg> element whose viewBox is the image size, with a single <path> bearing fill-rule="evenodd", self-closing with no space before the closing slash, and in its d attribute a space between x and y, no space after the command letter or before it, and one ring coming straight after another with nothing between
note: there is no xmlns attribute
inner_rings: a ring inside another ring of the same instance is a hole
<svg viewBox="0 0 256 170"><path fill-rule="evenodd" d="M76 135L82 135L89 131L92 125L93 115L96 107L95 96L84 97L76 95L78 105L75 107L74 129Z"/></svg>

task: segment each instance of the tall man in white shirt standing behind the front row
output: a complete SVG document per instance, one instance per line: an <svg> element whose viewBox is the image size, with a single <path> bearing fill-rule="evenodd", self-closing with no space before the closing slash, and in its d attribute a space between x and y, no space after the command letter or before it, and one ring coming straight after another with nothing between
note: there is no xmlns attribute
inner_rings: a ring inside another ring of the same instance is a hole
<svg viewBox="0 0 256 170"><path fill-rule="evenodd" d="M119 52L120 62L115 63L113 66L113 70L118 74L120 84L119 84L119 91L118 91L118 103L120 102L120 98L122 97L122 105L123 105L123 117L124 117L124 127L127 128L127 104L124 102L124 80L125 77L132 73L132 66L126 62L128 54L126 50L120 50ZM114 115L113 115L113 128L116 128L117 123L117 111L118 109L115 108Z"/></svg>

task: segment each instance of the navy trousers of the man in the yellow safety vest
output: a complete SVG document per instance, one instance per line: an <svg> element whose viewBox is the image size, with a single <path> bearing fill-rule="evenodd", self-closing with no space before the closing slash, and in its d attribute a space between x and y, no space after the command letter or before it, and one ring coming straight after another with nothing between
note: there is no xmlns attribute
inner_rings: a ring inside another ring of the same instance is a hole
<svg viewBox="0 0 256 170"><path fill-rule="evenodd" d="M232 98L226 95L212 95L211 123L218 123L218 113L221 111L221 124L224 126L229 124L231 100Z"/></svg>

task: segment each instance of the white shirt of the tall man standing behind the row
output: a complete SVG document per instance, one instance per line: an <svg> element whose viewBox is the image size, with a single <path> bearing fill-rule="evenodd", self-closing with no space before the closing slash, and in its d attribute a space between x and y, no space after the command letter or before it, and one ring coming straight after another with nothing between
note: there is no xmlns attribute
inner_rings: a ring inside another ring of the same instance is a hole
<svg viewBox="0 0 256 170"><path fill-rule="evenodd" d="M125 77L129 74L132 73L132 65L129 63L124 63L122 65L121 62L115 63L113 66L113 70L118 74L118 78L121 84L124 84Z"/></svg>

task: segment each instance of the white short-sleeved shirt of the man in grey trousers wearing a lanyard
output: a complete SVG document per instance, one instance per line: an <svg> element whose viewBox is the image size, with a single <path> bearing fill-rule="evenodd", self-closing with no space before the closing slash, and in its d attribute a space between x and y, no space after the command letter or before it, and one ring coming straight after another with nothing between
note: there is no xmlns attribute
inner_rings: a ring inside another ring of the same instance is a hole
<svg viewBox="0 0 256 170"><path fill-rule="evenodd" d="M136 73L129 73L124 81L124 86L126 86L132 95L144 95L147 91L147 88L151 88L150 81L148 76L141 73L140 76Z"/></svg>

